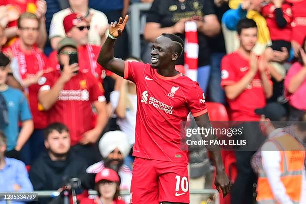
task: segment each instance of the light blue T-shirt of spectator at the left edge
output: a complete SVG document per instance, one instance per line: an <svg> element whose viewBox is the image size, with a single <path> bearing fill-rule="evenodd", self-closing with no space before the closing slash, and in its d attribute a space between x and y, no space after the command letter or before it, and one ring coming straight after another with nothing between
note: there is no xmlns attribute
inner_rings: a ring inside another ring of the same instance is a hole
<svg viewBox="0 0 306 204"><path fill-rule="evenodd" d="M7 135L7 151L10 151L17 144L19 120L30 120L32 115L27 99L20 90L8 87L8 89L0 91L0 94L3 95L8 108L9 124L4 128L4 133Z"/></svg>

